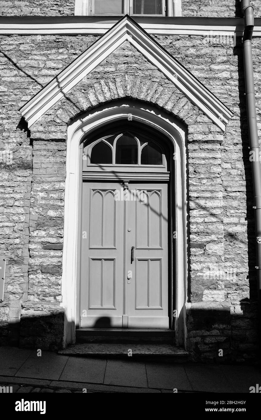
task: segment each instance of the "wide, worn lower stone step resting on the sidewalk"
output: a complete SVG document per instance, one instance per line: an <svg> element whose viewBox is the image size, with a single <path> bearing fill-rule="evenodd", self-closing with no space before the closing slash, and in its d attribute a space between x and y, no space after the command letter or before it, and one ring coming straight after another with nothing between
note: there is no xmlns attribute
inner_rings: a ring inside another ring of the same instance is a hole
<svg viewBox="0 0 261 420"><path fill-rule="evenodd" d="M131 351L130 351L131 350ZM165 361L186 362L188 353L171 344L134 344L134 343L84 343L72 344L67 349L59 350L67 356L117 357L128 358L164 358Z"/></svg>

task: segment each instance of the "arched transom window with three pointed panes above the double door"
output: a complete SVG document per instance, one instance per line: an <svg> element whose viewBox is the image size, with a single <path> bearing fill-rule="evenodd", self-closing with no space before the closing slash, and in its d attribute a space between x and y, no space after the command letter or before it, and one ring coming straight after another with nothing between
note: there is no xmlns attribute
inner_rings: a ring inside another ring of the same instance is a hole
<svg viewBox="0 0 261 420"><path fill-rule="evenodd" d="M166 158L152 139L124 131L103 136L84 147L87 165L166 165Z"/></svg>

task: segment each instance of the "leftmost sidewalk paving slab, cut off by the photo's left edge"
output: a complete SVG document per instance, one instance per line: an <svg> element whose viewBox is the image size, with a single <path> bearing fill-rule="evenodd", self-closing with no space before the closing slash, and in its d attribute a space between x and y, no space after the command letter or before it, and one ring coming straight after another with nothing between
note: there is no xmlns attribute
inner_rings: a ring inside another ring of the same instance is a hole
<svg viewBox="0 0 261 420"><path fill-rule="evenodd" d="M0 375L15 375L30 354L32 350L0 347Z"/></svg>

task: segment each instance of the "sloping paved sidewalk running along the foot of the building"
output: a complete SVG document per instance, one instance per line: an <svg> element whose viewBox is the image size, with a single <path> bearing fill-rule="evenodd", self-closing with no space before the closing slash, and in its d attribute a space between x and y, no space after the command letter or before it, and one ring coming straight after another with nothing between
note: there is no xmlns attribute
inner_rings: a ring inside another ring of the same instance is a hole
<svg viewBox="0 0 261 420"><path fill-rule="evenodd" d="M253 366L73 357L0 347L0 386L13 392L244 392L261 384Z"/></svg>

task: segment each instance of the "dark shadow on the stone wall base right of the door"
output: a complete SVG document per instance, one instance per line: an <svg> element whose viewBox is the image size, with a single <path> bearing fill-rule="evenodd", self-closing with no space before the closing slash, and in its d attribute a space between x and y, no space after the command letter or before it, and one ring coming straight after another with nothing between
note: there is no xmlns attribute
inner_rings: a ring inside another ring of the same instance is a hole
<svg viewBox="0 0 261 420"><path fill-rule="evenodd" d="M187 351L193 361L256 362L257 305L243 299L235 312L225 302L196 302L187 310Z"/></svg>

